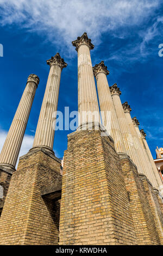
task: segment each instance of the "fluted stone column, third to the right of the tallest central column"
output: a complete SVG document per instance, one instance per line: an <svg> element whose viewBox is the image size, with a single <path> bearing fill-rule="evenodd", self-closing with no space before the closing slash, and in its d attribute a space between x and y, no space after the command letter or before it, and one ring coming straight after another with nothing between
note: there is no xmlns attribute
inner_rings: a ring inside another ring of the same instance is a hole
<svg viewBox="0 0 163 256"><path fill-rule="evenodd" d="M151 171L151 169L150 169L151 166L148 163L147 157L141 147L139 137L137 136L137 132L134 127L133 120L131 119L131 115L130 115L131 108L128 105L127 101L122 104L122 107L124 109L124 113L126 114L126 119L127 119L128 125L129 125L131 135L133 136L133 139L134 139L134 144L135 144L135 148L137 151L137 155L136 155L137 162L139 162L139 164L141 166L142 173L145 174L147 176L147 178L149 179L149 177L150 177L149 172ZM149 180L151 181L151 179L149 179Z"/></svg>

